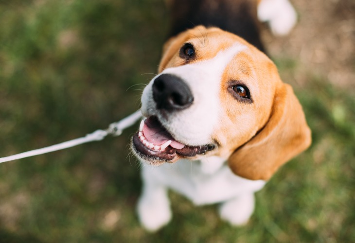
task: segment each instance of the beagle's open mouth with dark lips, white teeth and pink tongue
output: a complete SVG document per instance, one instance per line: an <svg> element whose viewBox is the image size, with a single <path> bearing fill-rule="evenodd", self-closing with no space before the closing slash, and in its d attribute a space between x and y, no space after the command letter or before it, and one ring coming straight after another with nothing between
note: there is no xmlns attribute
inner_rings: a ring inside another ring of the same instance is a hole
<svg viewBox="0 0 355 243"><path fill-rule="evenodd" d="M156 117L141 122L139 131L133 136L133 148L141 158L173 160L177 155L193 157L213 150L214 144L189 146L175 140Z"/></svg>

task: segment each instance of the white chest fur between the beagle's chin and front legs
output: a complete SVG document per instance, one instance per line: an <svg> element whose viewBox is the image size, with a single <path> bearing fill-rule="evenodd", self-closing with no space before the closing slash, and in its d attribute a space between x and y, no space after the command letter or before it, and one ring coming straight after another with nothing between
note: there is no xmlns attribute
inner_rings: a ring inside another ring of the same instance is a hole
<svg viewBox="0 0 355 243"><path fill-rule="evenodd" d="M181 159L174 164L142 168L144 183L177 191L195 205L224 202L244 193L259 191L265 181L252 181L231 172L224 159L209 157L201 161Z"/></svg>

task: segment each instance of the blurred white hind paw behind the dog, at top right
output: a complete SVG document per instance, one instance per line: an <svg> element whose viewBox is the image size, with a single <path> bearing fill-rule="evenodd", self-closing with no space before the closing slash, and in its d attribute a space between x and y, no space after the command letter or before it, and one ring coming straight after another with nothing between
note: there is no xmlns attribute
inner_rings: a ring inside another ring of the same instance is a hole
<svg viewBox="0 0 355 243"><path fill-rule="evenodd" d="M288 0L262 0L258 18L268 21L274 35L287 35L297 22L296 11Z"/></svg>

